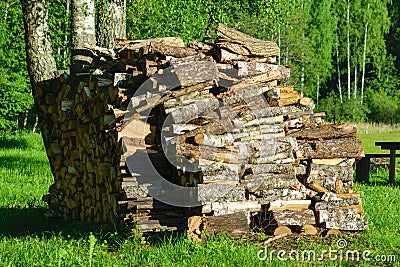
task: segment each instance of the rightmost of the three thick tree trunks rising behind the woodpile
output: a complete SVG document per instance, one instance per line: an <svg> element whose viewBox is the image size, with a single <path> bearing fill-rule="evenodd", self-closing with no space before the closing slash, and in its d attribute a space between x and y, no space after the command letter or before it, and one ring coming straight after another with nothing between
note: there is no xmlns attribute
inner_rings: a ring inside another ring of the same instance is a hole
<svg viewBox="0 0 400 267"><path fill-rule="evenodd" d="M103 1L104 2L104 1ZM126 0L107 0L97 13L97 45L115 47L115 39L126 39Z"/></svg>

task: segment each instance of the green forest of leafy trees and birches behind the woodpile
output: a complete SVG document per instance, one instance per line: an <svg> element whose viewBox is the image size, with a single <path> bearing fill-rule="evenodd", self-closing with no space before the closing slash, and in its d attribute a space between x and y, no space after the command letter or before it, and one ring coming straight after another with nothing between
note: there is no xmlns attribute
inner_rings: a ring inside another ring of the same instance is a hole
<svg viewBox="0 0 400 267"><path fill-rule="evenodd" d="M70 2L48 1L59 69L70 61ZM129 39L207 40L222 22L273 40L279 63L292 68L289 83L328 120L394 124L400 123L399 13L399 1L391 0L127 0L126 23ZM0 131L34 129L20 2L1 1L0 18Z"/></svg>

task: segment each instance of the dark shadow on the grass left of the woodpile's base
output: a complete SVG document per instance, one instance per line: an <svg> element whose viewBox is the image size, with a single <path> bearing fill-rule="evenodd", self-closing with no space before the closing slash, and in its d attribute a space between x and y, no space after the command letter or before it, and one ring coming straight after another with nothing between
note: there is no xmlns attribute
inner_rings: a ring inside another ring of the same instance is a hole
<svg viewBox="0 0 400 267"><path fill-rule="evenodd" d="M81 238L90 232L115 232L109 226L64 219L47 219L44 208L1 208L0 237L52 236Z"/></svg>

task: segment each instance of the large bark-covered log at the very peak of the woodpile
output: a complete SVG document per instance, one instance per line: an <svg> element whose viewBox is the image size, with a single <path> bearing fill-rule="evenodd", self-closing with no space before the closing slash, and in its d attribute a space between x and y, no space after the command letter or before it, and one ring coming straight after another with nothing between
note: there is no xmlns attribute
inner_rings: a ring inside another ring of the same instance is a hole
<svg viewBox="0 0 400 267"><path fill-rule="evenodd" d="M217 27L217 35L219 40L224 41L218 43L218 46L226 47L237 54L261 57L279 55L276 43L250 37L221 23Z"/></svg>

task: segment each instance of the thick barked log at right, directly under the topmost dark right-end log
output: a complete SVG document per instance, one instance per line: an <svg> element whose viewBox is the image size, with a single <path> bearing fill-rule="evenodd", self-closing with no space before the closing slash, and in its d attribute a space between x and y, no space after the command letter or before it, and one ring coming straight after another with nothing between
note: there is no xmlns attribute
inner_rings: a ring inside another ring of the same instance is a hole
<svg viewBox="0 0 400 267"><path fill-rule="evenodd" d="M364 148L359 138L314 140L299 143L297 159L361 158Z"/></svg>

